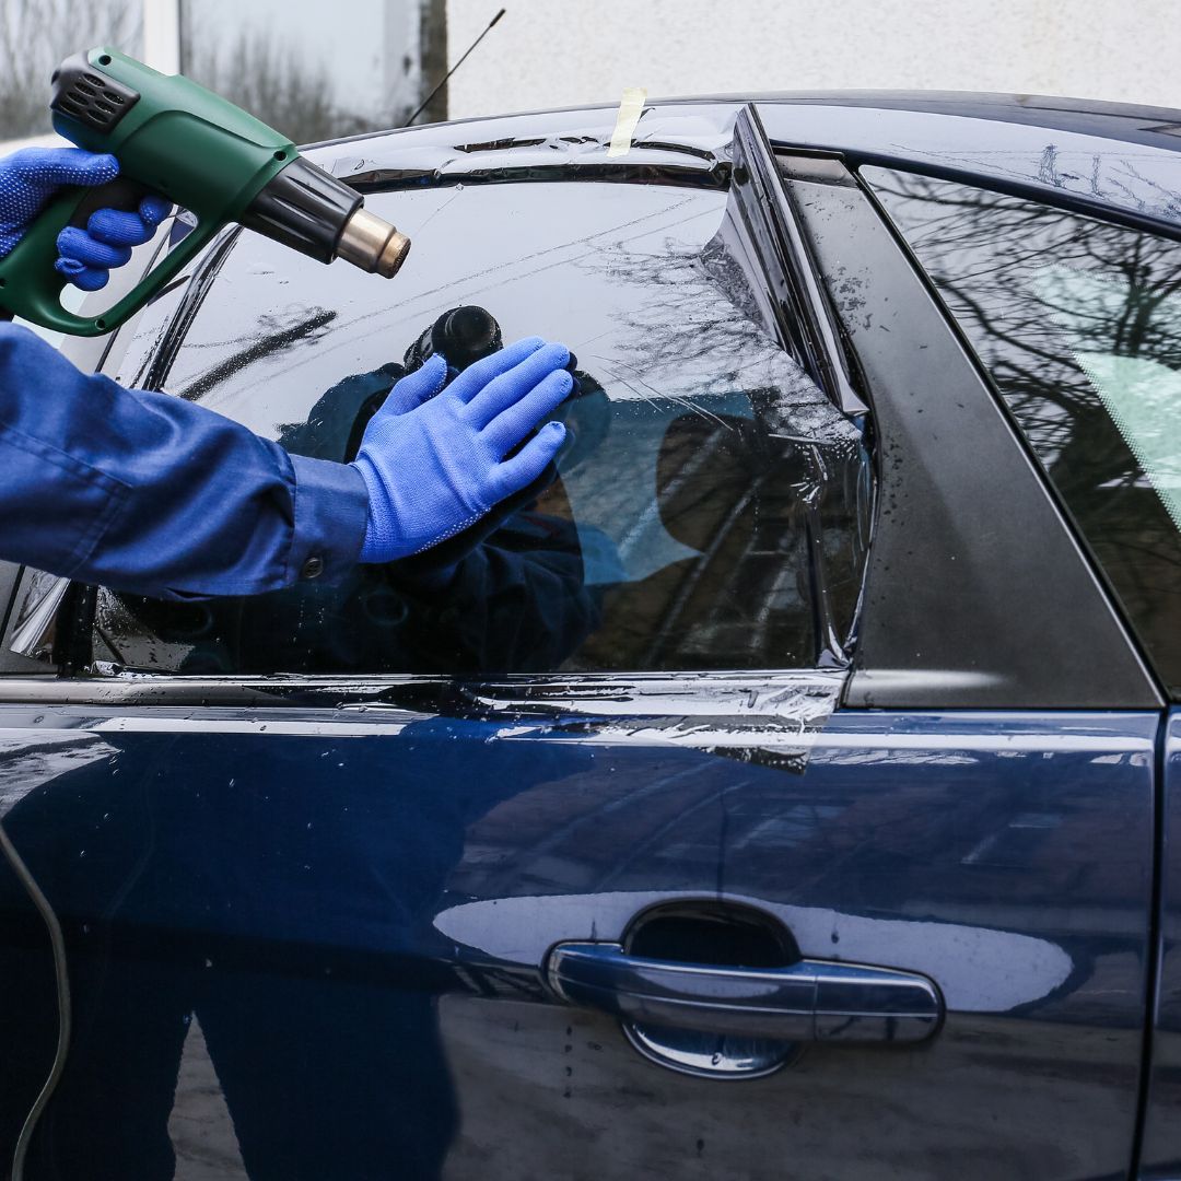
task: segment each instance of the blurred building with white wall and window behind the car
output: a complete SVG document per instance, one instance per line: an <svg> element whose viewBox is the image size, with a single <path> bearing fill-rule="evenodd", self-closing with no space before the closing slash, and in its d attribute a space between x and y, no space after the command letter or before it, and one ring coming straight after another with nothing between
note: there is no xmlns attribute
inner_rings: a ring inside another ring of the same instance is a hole
<svg viewBox="0 0 1181 1181"><path fill-rule="evenodd" d="M301 143L398 126L498 0L0 0L0 137L48 135L48 76L107 44ZM935 89L1181 107L1176 0L505 0L416 122L651 97Z"/></svg>

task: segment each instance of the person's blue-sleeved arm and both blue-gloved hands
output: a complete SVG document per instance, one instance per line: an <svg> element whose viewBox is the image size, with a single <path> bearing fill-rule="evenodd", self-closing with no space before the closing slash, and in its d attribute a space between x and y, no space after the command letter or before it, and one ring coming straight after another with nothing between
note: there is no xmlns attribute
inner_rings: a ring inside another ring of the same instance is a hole
<svg viewBox="0 0 1181 1181"><path fill-rule="evenodd" d="M28 149L0 161L0 256L59 184L102 184L112 156ZM58 237L89 291L168 205L100 209ZM533 338L443 391L433 357L399 381L352 464L289 456L201 406L84 376L31 333L0 329L0 557L157 598L250 595L333 579L454 536L528 485L561 446L534 425L569 393L560 345ZM518 444L524 444L517 452Z"/></svg>

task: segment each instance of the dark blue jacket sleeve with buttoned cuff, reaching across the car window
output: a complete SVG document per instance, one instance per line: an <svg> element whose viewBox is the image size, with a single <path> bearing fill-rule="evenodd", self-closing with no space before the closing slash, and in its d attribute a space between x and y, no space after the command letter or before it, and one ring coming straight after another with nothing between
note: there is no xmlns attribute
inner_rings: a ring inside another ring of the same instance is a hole
<svg viewBox="0 0 1181 1181"><path fill-rule="evenodd" d="M0 559L162 599L261 594L342 575L367 508L355 469L0 324Z"/></svg>

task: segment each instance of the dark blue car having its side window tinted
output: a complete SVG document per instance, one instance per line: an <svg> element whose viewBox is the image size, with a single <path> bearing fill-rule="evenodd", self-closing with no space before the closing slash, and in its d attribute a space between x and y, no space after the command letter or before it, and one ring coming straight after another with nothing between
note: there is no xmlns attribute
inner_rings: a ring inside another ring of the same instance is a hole
<svg viewBox="0 0 1181 1181"><path fill-rule="evenodd" d="M1181 112L615 113L319 145L397 279L64 346L333 461L428 344L578 381L339 585L6 568L26 1176L1181 1174Z"/></svg>

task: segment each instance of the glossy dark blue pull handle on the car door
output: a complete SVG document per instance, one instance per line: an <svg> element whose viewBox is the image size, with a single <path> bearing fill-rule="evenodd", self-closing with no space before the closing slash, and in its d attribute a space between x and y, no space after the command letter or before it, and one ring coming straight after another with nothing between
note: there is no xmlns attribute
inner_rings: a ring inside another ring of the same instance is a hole
<svg viewBox="0 0 1181 1181"><path fill-rule="evenodd" d="M547 967L563 1000L645 1026L781 1042L913 1043L932 1037L944 1017L942 997L926 977L860 964L729 967L566 942Z"/></svg>

